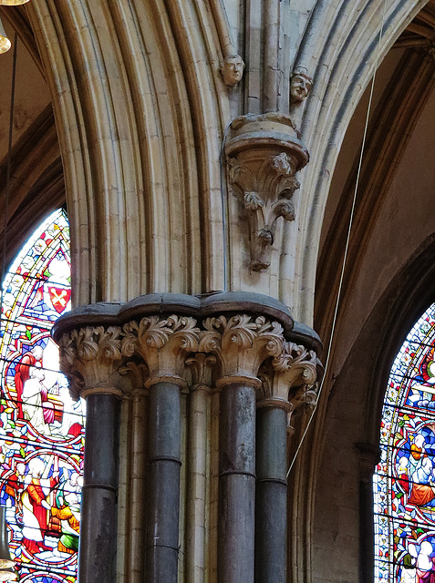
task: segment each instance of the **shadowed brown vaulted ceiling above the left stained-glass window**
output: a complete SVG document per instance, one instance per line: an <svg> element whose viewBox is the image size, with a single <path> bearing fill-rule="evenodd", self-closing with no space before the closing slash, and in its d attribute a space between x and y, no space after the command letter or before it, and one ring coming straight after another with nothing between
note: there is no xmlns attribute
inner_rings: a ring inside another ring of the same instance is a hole
<svg viewBox="0 0 435 583"><path fill-rule="evenodd" d="M55 118L44 68L29 24L26 6L2 6L0 16L13 47L1 55L0 71L0 189L5 196L9 144L10 101L16 46L16 90L8 201L7 256L11 259L23 243L23 224L37 224L49 210L65 201L63 169ZM5 199L4 199L5 201ZM3 217L0 245L3 248Z"/></svg>

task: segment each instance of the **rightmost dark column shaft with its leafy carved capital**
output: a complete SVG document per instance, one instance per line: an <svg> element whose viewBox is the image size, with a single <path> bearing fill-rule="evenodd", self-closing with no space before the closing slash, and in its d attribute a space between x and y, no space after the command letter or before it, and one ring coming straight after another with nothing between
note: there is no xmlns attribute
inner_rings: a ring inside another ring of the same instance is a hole
<svg viewBox="0 0 435 583"><path fill-rule="evenodd" d="M310 393L316 382L316 353L285 343L267 371L257 407L255 499L255 581L286 581L287 424L295 411L295 394ZM288 422L287 422L288 419Z"/></svg>

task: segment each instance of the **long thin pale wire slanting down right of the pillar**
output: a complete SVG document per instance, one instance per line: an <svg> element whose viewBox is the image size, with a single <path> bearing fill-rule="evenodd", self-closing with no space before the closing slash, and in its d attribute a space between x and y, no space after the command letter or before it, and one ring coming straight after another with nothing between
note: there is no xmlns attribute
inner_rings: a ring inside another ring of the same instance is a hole
<svg viewBox="0 0 435 583"><path fill-rule="evenodd" d="M335 339L337 315L338 315L338 309L340 307L341 292L342 292L342 288L343 288L344 275L345 275L345 270L346 270L346 266L347 266L347 253L349 250L350 235L352 232L355 207L356 207L356 203L357 203L357 190L358 190L358 186L359 186L359 178L361 175L362 162L363 162L363 158L364 158L366 139L367 139L367 134L368 134L368 119L370 117L371 106L372 106L372 101L373 101L373 91L374 91L374 87L375 87L376 74L378 71L378 59L379 59L379 55L380 55L380 41L382 40L382 35L384 32L386 5L387 5L387 0L384 0L384 5L382 7L382 20L381 20L381 25L380 25L380 30L379 30L378 47L377 47L377 52L375 55L375 64L374 64L375 70L374 70L373 77L371 80L370 97L368 98L366 124L364 127L364 134L363 134L363 139L362 139L362 144L361 144L361 151L360 151L359 160L358 160L357 179L355 182L355 189L354 189L354 194L353 194L353 199L352 199L352 208L350 210L349 225L347 228L347 240L346 240L346 245L345 245L345 253L343 255L343 262L342 262L342 266L341 266L340 280L339 280L339 284L338 284L337 301L336 301L336 307L334 310L334 317L332 320L331 334L329 336L329 343L328 343L328 347L327 347L325 373L323 375L322 381L321 381L319 389L318 389L317 402L319 401L320 395L322 394L323 388L325 386L326 375L328 372L328 365L329 365L329 360L330 360L330 356L331 356L332 344L333 344L334 339ZM313 411L313 413L311 414L311 416L308 420L308 423L306 424L306 429L304 431L304 434L302 435L301 441L296 448L293 460L292 460L291 464L289 465L289 468L288 468L288 471L286 474L287 478L290 475L290 472L292 471L293 466L295 465L296 457L299 454L302 445L304 444L306 434L308 433L308 429L310 428L311 422L314 419L315 413L316 413L316 409Z"/></svg>

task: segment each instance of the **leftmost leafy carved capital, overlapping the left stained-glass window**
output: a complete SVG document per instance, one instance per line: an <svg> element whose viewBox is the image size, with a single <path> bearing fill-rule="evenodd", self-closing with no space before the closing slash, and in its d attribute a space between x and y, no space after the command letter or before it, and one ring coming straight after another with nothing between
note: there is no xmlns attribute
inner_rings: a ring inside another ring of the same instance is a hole
<svg viewBox="0 0 435 583"><path fill-rule="evenodd" d="M124 384L119 375L120 333L119 326L86 326L61 336L60 370L67 375L74 398L92 390L120 394Z"/></svg>

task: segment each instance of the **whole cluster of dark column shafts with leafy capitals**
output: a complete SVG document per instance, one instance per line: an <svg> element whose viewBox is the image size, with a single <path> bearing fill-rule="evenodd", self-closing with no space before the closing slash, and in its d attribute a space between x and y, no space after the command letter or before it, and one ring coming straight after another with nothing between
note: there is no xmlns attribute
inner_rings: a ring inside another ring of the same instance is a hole
<svg viewBox="0 0 435 583"><path fill-rule="evenodd" d="M287 343L281 323L249 313L212 316L201 326L191 316L177 315L120 324L76 328L57 338L71 391L88 397L80 583L117 580L119 399L138 391L148 391L148 435L142 462L131 467L142 468L144 476L135 472L134 480L143 478L146 488L140 499L131 486L131 496L145 524L140 529L137 520L129 522L145 537L138 549L133 548L138 537L129 538L127 548L135 557L127 558L127 570L139 575L142 565L147 581L177 583L181 390L188 386L188 423L195 424L188 427L188 577L205 580L207 469L199 450L207 438L202 434L215 386L220 392L218 582L285 583L287 423L316 380L316 354ZM142 389L129 374L140 367Z"/></svg>

